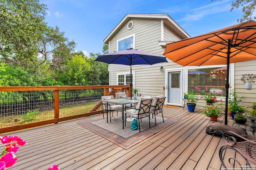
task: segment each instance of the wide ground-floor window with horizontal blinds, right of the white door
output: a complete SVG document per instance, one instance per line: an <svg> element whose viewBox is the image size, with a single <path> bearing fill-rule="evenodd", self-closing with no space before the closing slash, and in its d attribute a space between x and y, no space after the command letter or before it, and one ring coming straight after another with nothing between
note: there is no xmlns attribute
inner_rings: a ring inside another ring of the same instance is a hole
<svg viewBox="0 0 256 170"><path fill-rule="evenodd" d="M221 96L225 96L226 71L227 67L188 69L188 92L197 93L197 87L203 93L219 92Z"/></svg>

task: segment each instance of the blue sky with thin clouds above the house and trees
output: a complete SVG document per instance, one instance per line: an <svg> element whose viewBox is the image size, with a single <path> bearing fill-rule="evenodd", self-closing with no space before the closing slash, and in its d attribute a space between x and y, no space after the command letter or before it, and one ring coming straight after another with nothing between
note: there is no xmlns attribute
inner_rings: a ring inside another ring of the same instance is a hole
<svg viewBox="0 0 256 170"><path fill-rule="evenodd" d="M168 14L191 37L237 24L234 0L40 0L46 22L76 42L77 51L102 53L103 40L126 14Z"/></svg>

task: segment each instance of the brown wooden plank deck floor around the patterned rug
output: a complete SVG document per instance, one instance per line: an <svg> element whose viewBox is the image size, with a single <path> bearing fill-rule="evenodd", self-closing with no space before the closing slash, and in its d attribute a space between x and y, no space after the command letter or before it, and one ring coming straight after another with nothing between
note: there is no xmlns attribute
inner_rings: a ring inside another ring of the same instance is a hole
<svg viewBox="0 0 256 170"><path fill-rule="evenodd" d="M96 135L76 122L82 119L102 119L102 115L46 125L6 135L18 135L27 145L18 150L16 164L10 170L46 170L52 164L60 170L220 170L218 150L224 145L219 137L205 133L211 122L196 109L164 107L164 115L182 120L148 137L128 150ZM229 119L229 117L228 117ZM224 116L218 123L224 124ZM228 125L238 125L229 119ZM251 132L248 132L251 135ZM2 150L3 147L1 146Z"/></svg>

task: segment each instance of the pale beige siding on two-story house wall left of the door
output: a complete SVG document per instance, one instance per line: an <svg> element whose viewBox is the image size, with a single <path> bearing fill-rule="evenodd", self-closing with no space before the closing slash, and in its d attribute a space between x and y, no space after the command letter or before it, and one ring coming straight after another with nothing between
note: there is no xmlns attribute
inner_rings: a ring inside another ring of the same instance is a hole
<svg viewBox="0 0 256 170"><path fill-rule="evenodd" d="M127 23L133 21L134 26L132 29L127 29ZM164 28L165 30L166 28ZM172 35L170 29L166 29L165 36L172 37L166 41L176 41L177 35ZM165 47L159 45L158 41L161 40L161 20L144 20L144 19L131 19L116 33L110 41L110 52L116 51L117 39L126 37L135 33L135 49L162 55ZM164 95L165 90L165 71L166 68L179 67L178 64L173 63L167 59L169 63L159 63L153 65L133 65L132 71L135 72L135 87L140 89L143 96L158 96ZM160 67L164 69L160 72ZM116 74L120 72L130 72L130 66L110 64L110 85L116 84Z"/></svg>

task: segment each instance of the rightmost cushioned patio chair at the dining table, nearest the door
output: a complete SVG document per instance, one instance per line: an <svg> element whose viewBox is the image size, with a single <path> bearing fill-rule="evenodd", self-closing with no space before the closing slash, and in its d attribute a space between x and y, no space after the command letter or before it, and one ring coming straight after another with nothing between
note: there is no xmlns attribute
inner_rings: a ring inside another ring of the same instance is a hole
<svg viewBox="0 0 256 170"><path fill-rule="evenodd" d="M164 122L164 115L163 115L163 106L164 106L164 100L165 96L156 96L150 106L149 113L152 113L152 118L154 118L155 115L155 122L156 122L156 114L162 113L163 122Z"/></svg>

